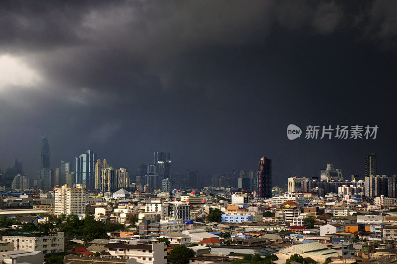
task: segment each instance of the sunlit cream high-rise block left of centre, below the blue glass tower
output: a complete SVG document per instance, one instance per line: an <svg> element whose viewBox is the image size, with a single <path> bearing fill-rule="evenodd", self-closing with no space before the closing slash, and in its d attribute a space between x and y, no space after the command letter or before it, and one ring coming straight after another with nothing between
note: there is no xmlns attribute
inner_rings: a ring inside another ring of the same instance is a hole
<svg viewBox="0 0 397 264"><path fill-rule="evenodd" d="M84 214L85 188L81 184L68 188L65 185L55 188L55 214Z"/></svg>

